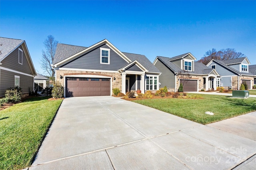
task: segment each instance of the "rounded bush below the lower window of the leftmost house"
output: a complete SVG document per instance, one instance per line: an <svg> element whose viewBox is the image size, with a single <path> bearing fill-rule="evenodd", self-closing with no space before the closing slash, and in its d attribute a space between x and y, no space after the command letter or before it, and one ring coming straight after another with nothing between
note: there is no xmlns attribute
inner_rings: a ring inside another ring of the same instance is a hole
<svg viewBox="0 0 256 170"><path fill-rule="evenodd" d="M20 87L10 87L5 92L5 97L9 102L20 102L21 101L22 90Z"/></svg>

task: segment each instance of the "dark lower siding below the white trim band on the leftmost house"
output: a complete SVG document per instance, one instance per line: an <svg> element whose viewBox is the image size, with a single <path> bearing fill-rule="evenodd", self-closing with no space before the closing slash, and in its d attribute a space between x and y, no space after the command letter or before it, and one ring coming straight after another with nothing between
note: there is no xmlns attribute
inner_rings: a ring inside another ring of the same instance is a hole
<svg viewBox="0 0 256 170"><path fill-rule="evenodd" d="M0 70L0 96L4 96L6 89L15 86L14 76L20 76L20 88L22 88L22 94L29 93L29 88L34 86L34 77L25 76L15 72L6 70Z"/></svg>

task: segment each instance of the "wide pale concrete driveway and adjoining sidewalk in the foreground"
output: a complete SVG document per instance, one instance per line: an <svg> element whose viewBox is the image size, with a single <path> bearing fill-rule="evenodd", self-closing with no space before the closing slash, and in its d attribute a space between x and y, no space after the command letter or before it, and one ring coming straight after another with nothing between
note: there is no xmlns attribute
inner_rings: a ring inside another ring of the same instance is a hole
<svg viewBox="0 0 256 170"><path fill-rule="evenodd" d="M254 168L254 137L213 124L112 96L66 98L29 170Z"/></svg>

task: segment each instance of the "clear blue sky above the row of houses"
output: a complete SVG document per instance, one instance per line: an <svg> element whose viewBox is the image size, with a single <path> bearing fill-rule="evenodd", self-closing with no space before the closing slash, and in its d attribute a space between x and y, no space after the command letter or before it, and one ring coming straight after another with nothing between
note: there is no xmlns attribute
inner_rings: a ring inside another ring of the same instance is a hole
<svg viewBox="0 0 256 170"><path fill-rule="evenodd" d="M256 64L256 1L0 1L0 37L26 41L37 72L43 42L89 47L108 39L122 52L174 57L234 48ZM45 74L46 75L46 74Z"/></svg>

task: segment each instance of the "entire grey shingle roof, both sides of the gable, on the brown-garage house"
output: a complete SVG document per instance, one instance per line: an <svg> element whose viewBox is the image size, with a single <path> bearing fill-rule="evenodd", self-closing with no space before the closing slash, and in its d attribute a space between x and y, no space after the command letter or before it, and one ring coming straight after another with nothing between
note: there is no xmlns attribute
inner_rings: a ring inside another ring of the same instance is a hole
<svg viewBox="0 0 256 170"><path fill-rule="evenodd" d="M56 53L54 57L53 64L56 64L68 57L87 49L88 47L80 47L75 45L67 45L58 43L56 48ZM122 52L123 53L123 52ZM137 60L140 64L142 64L149 72L159 72L160 71L148 60L145 55L132 54L132 53L123 53L126 57L128 57L131 61Z"/></svg>

